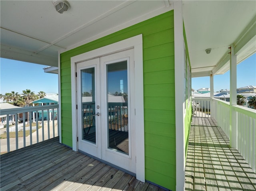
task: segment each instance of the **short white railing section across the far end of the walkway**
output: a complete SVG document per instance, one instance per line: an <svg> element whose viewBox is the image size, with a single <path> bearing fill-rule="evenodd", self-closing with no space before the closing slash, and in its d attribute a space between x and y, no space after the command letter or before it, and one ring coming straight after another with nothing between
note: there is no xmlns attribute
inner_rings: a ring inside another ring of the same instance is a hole
<svg viewBox="0 0 256 191"><path fill-rule="evenodd" d="M192 98L193 113L197 117L210 117L210 98Z"/></svg>

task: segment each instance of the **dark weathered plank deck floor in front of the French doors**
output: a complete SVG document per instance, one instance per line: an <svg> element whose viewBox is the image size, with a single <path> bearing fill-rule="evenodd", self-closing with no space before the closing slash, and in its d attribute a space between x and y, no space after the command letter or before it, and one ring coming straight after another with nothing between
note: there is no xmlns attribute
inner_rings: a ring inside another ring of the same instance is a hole
<svg viewBox="0 0 256 191"><path fill-rule="evenodd" d="M1 191L163 191L53 138L1 155Z"/></svg>

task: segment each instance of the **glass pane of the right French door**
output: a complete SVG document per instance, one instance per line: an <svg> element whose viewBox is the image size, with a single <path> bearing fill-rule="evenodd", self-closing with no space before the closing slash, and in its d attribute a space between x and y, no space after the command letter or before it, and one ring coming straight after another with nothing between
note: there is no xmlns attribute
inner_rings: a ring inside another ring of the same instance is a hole
<svg viewBox="0 0 256 191"><path fill-rule="evenodd" d="M129 154L127 61L107 65L108 148Z"/></svg>

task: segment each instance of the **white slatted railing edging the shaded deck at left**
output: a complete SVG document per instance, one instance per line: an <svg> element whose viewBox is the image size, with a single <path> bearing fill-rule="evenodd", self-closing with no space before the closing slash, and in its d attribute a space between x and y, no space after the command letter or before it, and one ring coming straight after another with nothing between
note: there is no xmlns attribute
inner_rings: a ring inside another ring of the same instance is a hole
<svg viewBox="0 0 256 191"><path fill-rule="evenodd" d="M1 116L6 115L6 132L1 129L1 135L6 133L6 138L0 139L0 152L10 152L59 136L58 108L58 104L53 104L0 110ZM19 118L20 114L22 118ZM15 119L15 125L12 127L10 116L14 116ZM23 124L19 124L20 122ZM32 123L35 126L32 126ZM26 124L29 126L26 127ZM26 136L26 130L29 130L29 136ZM15 137L10 138L10 132L13 131ZM19 131L23 131L22 137L18 136Z"/></svg>

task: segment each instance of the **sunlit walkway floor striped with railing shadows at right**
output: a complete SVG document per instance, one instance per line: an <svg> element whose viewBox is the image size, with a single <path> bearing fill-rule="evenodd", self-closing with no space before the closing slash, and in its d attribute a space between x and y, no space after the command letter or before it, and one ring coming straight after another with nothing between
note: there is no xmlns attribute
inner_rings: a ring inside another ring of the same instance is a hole
<svg viewBox="0 0 256 191"><path fill-rule="evenodd" d="M212 118L193 117L186 191L256 191L256 174Z"/></svg>

